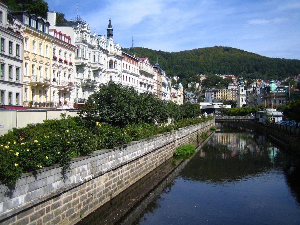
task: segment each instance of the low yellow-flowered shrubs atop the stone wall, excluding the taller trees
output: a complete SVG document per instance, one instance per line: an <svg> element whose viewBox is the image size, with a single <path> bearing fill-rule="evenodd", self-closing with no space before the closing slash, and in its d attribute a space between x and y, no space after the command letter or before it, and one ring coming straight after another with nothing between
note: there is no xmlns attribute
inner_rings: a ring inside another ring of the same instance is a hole
<svg viewBox="0 0 300 225"><path fill-rule="evenodd" d="M42 124L13 128L0 137L0 180L13 186L22 173L32 172L54 164L61 164L64 175L70 169L73 156L88 155L98 149L115 148L161 134L179 127L200 123L213 117L178 120L175 125L158 127L139 122L120 129L108 123L96 122L90 128L83 126L79 117L45 120ZM18 134L23 139L16 143Z"/></svg>

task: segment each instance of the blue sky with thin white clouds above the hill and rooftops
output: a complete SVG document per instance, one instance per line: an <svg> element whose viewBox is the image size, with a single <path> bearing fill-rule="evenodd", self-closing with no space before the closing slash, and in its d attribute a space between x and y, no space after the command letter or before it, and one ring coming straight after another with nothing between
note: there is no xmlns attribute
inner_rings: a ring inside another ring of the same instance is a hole
<svg viewBox="0 0 300 225"><path fill-rule="evenodd" d="M66 19L80 16L92 33L123 48L179 52L230 46L271 58L300 59L299 0L46 0ZM67 2L67 5L66 5ZM77 7L78 3L78 7Z"/></svg>

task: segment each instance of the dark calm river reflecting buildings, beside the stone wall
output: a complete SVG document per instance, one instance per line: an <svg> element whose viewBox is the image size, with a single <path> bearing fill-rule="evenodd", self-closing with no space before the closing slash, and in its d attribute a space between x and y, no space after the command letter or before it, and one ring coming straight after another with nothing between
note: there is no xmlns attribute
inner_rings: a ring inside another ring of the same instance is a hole
<svg viewBox="0 0 300 225"><path fill-rule="evenodd" d="M217 128L192 158L166 162L78 224L300 224L298 159L254 130Z"/></svg>

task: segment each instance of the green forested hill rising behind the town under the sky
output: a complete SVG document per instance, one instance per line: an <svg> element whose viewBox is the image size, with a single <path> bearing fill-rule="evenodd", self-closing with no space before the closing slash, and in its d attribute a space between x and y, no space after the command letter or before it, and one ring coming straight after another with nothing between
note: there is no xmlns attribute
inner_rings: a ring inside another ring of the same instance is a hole
<svg viewBox="0 0 300 225"><path fill-rule="evenodd" d="M147 48L122 48L137 58L147 57L152 65L158 62L168 76L186 78L195 74L233 74L251 79L279 79L300 73L300 60L268 58L232 47L214 46L163 52Z"/></svg>

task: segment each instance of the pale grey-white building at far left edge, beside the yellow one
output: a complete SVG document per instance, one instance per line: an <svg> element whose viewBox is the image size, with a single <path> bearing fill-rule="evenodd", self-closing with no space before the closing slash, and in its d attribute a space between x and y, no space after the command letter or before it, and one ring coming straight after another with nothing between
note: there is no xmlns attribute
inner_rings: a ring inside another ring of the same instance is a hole
<svg viewBox="0 0 300 225"><path fill-rule="evenodd" d="M0 2L0 105L22 105L23 27ZM8 107L7 107L8 108Z"/></svg>

